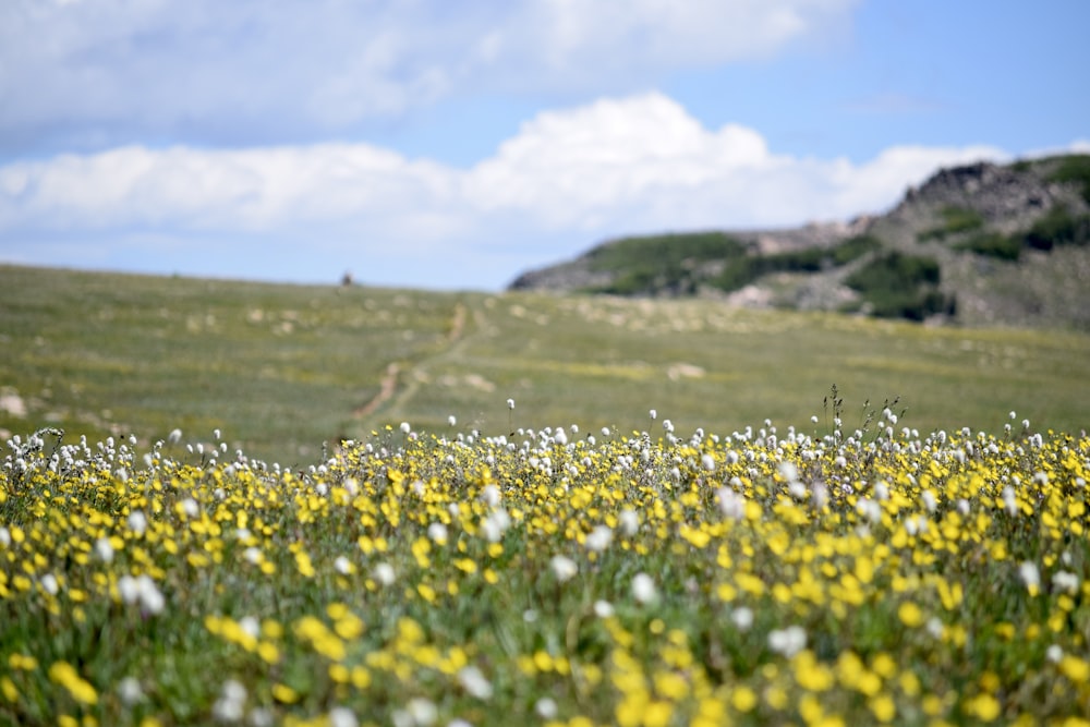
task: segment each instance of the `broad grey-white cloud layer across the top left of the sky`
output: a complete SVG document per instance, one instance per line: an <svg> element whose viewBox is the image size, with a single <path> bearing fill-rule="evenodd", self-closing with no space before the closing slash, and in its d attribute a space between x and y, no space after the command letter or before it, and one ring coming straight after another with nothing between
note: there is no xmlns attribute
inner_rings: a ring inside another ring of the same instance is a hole
<svg viewBox="0 0 1090 727"><path fill-rule="evenodd" d="M837 34L858 0L0 5L0 140L323 138L488 92L627 93Z"/></svg>

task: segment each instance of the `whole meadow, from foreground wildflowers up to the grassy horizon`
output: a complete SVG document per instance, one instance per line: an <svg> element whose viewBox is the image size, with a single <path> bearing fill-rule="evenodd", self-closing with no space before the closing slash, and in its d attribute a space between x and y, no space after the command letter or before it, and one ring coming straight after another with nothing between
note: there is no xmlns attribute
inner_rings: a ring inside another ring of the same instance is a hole
<svg viewBox="0 0 1090 727"><path fill-rule="evenodd" d="M0 724L1090 725L1086 337L0 278Z"/></svg>

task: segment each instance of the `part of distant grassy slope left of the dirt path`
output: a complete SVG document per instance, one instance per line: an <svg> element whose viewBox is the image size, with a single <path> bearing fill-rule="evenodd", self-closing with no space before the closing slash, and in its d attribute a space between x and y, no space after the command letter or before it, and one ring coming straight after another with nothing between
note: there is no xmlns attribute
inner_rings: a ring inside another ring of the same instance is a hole
<svg viewBox="0 0 1090 727"><path fill-rule="evenodd" d="M0 267L0 387L71 436L173 427L289 463L447 334L457 299Z"/></svg>

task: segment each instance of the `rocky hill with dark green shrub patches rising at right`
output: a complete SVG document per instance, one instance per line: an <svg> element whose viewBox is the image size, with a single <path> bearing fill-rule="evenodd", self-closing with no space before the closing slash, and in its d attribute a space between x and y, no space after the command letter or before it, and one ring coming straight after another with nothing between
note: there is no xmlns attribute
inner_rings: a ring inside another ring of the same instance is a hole
<svg viewBox="0 0 1090 727"><path fill-rule="evenodd" d="M1090 156L942 169L848 222L613 240L510 288L1090 330Z"/></svg>

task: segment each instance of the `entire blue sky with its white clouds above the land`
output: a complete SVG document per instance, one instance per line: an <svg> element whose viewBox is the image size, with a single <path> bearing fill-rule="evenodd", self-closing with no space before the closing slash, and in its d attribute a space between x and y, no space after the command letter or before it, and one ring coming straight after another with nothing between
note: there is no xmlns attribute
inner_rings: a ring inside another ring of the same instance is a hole
<svg viewBox="0 0 1090 727"><path fill-rule="evenodd" d="M3 0L0 263L437 290L1090 152L1085 0Z"/></svg>

